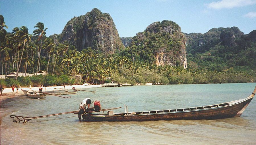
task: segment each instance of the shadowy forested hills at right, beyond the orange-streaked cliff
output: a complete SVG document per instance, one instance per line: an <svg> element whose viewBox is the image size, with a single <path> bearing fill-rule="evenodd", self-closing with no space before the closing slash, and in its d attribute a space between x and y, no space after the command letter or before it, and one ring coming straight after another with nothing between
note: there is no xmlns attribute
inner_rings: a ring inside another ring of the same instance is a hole
<svg viewBox="0 0 256 145"><path fill-rule="evenodd" d="M209 71L255 70L255 32L243 35L237 27L231 27L186 34L188 67Z"/></svg>

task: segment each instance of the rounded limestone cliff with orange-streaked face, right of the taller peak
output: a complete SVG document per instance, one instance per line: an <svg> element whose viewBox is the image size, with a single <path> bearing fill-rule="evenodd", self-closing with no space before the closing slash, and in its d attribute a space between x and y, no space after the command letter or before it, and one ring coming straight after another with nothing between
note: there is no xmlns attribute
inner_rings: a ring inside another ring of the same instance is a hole
<svg viewBox="0 0 256 145"><path fill-rule="evenodd" d="M179 25L172 21L154 22L133 37L130 50L133 59L146 60L156 65L187 68L186 37Z"/></svg>

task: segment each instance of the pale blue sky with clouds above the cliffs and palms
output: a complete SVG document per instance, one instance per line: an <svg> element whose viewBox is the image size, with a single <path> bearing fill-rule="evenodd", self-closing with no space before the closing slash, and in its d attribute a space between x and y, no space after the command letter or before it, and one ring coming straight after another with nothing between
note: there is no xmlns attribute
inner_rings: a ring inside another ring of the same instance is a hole
<svg viewBox="0 0 256 145"><path fill-rule="evenodd" d="M120 37L133 37L162 20L176 22L184 33L236 26L248 34L256 29L256 0L0 0L7 32L26 26L32 34L43 22L46 36L60 34L71 18L93 8L110 14Z"/></svg>

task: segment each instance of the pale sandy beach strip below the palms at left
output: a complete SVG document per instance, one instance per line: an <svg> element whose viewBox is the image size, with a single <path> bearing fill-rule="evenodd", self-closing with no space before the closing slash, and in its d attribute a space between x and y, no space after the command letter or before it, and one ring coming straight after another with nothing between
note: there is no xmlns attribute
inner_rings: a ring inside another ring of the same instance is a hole
<svg viewBox="0 0 256 145"><path fill-rule="evenodd" d="M86 89L86 88L97 88L97 87L101 87L101 85L69 85L69 86L65 86L65 89L72 89L73 87L75 87L75 89ZM59 89L59 88L62 88L64 89L64 86L49 86L49 87L43 87L43 91L53 91L54 89ZM5 88L3 90L3 95L0 96L0 101L3 101L7 98L13 98L13 97L18 97L18 96L22 96L22 95L25 95L21 89L24 89L24 90L34 90L34 91L38 91L39 90L39 87L21 87L19 88L18 90L18 93L16 93L17 89L15 88L14 89L14 92L12 90L12 88Z"/></svg>

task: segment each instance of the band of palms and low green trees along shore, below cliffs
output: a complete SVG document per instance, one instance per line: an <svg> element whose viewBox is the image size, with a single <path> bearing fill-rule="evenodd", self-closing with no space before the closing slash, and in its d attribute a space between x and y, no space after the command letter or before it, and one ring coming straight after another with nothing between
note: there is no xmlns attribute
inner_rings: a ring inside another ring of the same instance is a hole
<svg viewBox="0 0 256 145"><path fill-rule="evenodd" d="M1 86L22 87L54 85L100 84L206 84L255 82L255 71L245 67L230 67L225 70L209 70L182 66L158 66L149 61L133 60L126 50L115 54L102 54L92 47L81 51L68 41L57 42L46 37L44 23L35 25L33 34L26 26L13 28L7 33L1 15L1 75L16 73L14 78L1 79ZM214 64L213 64L214 65ZM192 65L191 65L192 66ZM216 68L218 65L215 66ZM37 75L43 70L47 75ZM18 76L18 73L24 76ZM26 76L27 73L36 74ZM81 80L74 76L81 76Z"/></svg>

